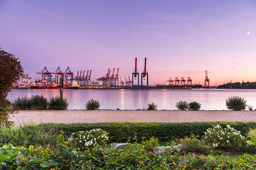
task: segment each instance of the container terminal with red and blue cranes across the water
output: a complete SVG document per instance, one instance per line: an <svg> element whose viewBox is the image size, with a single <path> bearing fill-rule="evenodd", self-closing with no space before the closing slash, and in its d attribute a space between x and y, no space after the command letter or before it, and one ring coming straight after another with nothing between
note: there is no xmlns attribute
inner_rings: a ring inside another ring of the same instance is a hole
<svg viewBox="0 0 256 170"><path fill-rule="evenodd" d="M146 70L146 58L144 69L141 74L137 70L137 58L135 58L135 69L132 73L132 79L130 76L125 76L123 80L119 79L119 68L115 73L115 68L112 71L108 69L107 74L100 78L92 78L92 70L80 70L77 71L76 76L70 71L70 68L62 72L58 67L54 72L49 72L46 67L40 72L36 72L40 77L34 78L31 81L29 74L23 73L20 81L14 83L13 89L58 89L60 88L60 82L63 80L63 88L65 89L192 89L192 88L216 88L216 86L210 86L210 80L205 71L205 84L192 84L192 79L188 77L185 79L182 77L179 79L169 78L164 84L156 84L155 86L148 85L148 72Z"/></svg>

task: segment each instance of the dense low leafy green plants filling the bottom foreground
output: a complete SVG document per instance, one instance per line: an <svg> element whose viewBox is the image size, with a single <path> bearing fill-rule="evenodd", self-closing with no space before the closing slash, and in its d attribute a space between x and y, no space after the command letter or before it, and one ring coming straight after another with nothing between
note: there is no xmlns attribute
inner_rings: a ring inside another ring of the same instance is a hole
<svg viewBox="0 0 256 170"><path fill-rule="evenodd" d="M96 138L98 134L92 137ZM80 136L79 136L80 137ZM83 136L81 135L83 138ZM147 151L143 144L118 146L116 149L95 145L81 150L65 139L63 132L56 136L56 146L5 144L0 147L1 169L255 169L255 155L243 154L231 159L227 155L198 155L174 152ZM155 140L154 142L155 143ZM130 147L132 146L132 147ZM127 149L130 147L132 149ZM157 146L156 146L157 147ZM157 150L154 148L154 150Z"/></svg>

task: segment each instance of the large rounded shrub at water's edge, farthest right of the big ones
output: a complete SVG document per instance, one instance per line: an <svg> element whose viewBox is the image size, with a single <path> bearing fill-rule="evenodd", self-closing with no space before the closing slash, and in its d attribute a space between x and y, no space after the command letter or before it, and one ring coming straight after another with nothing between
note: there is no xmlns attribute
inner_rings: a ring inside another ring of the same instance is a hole
<svg viewBox="0 0 256 170"><path fill-rule="evenodd" d="M247 107L246 100L239 96L231 96L226 99L226 106L228 110L245 110Z"/></svg>

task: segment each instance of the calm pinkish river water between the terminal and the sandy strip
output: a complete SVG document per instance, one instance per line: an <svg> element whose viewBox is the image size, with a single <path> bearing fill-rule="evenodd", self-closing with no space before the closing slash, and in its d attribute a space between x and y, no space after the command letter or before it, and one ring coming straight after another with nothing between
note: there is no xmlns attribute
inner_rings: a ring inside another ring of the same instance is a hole
<svg viewBox="0 0 256 170"><path fill-rule="evenodd" d="M18 96L31 97L32 95L43 95L50 98L59 96L57 89L29 89L12 90L8 98L13 100ZM244 97L247 104L256 108L255 89L192 89L192 90L66 90L64 97L69 101L68 109L85 109L87 101L90 99L99 100L100 109L146 109L148 103L157 104L158 110L176 110L176 103L180 100L188 102L197 101L201 104L202 110L227 110L225 100L232 96Z"/></svg>

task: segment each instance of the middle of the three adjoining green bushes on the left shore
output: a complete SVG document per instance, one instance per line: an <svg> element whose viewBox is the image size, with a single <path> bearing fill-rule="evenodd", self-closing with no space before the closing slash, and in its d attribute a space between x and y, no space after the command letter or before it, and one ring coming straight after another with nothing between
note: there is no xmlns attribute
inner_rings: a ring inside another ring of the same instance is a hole
<svg viewBox="0 0 256 170"><path fill-rule="evenodd" d="M33 95L31 96L31 107L32 109L35 110L45 110L47 109L48 106L48 100L47 98L44 98L43 95L39 96L37 95Z"/></svg>

